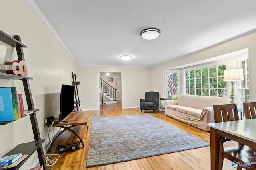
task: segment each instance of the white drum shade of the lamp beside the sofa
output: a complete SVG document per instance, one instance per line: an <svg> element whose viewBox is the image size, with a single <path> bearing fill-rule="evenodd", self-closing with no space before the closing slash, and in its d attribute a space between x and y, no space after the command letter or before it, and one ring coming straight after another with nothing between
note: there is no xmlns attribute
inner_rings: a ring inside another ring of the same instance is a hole
<svg viewBox="0 0 256 170"><path fill-rule="evenodd" d="M244 80L242 68L232 68L224 70L224 81L241 81Z"/></svg>

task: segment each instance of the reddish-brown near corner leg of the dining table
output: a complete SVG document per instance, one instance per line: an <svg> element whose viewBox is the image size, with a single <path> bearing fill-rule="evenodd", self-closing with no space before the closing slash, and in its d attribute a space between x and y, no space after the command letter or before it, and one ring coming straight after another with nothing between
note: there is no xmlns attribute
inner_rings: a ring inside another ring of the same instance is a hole
<svg viewBox="0 0 256 170"><path fill-rule="evenodd" d="M220 155L220 136L217 130L210 128L210 143L211 143L211 170L218 170L219 155Z"/></svg>

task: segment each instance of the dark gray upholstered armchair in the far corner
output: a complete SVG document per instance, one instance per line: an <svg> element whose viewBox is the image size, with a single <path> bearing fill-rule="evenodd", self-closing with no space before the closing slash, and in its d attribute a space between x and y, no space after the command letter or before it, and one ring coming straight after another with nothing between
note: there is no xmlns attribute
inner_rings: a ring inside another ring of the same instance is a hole
<svg viewBox="0 0 256 170"><path fill-rule="evenodd" d="M145 99L140 99L140 110L155 110L159 109L159 93L158 92L146 92Z"/></svg>

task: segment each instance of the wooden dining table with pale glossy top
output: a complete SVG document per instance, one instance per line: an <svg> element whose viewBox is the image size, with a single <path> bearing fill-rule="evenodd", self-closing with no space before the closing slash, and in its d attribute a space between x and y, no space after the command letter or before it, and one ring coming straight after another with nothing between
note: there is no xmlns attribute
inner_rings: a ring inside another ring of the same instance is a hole
<svg viewBox="0 0 256 170"><path fill-rule="evenodd" d="M220 136L256 149L256 119L208 123L210 127L211 170L218 170Z"/></svg>

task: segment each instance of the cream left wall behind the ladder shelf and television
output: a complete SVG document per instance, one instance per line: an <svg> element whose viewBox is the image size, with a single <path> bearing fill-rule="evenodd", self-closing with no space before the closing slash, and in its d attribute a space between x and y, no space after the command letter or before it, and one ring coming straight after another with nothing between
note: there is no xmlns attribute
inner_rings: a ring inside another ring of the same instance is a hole
<svg viewBox="0 0 256 170"><path fill-rule="evenodd" d="M44 119L60 113L61 84L71 84L71 72L77 72L77 66L23 0L0 0L0 29L11 36L19 35L22 43L27 45L24 55L28 76L33 78L30 86L34 106L40 109L36 113L38 127L41 138L46 138L48 143ZM15 48L0 48L1 64L17 60ZM25 96L21 80L0 79L0 86L16 86L18 92ZM0 157L20 143L33 141L29 116L0 126L0 137ZM34 162L37 163L37 154L21 169L32 168Z"/></svg>

